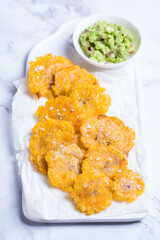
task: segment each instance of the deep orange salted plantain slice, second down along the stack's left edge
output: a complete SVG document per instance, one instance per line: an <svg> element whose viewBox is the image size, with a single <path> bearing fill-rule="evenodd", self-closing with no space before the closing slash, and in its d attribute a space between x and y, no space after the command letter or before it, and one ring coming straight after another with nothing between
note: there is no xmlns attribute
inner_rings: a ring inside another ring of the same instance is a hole
<svg viewBox="0 0 160 240"><path fill-rule="evenodd" d="M70 97L59 96L49 99L46 105L40 106L36 112L40 120L52 118L66 120L79 131L81 124L81 108L78 103Z"/></svg>

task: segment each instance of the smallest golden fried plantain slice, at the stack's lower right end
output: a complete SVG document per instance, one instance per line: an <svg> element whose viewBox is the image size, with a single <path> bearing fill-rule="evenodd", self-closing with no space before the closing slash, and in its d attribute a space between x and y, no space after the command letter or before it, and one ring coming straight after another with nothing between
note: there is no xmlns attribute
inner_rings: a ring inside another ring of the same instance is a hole
<svg viewBox="0 0 160 240"><path fill-rule="evenodd" d="M138 173L125 170L117 173L111 182L111 189L115 200L132 202L144 192L144 181Z"/></svg>

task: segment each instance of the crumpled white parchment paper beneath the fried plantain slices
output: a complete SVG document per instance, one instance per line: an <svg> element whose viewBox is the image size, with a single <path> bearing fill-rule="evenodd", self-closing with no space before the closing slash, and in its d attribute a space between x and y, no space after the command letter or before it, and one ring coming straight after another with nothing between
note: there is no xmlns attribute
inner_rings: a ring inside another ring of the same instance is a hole
<svg viewBox="0 0 160 240"><path fill-rule="evenodd" d="M37 100L28 89L26 78L17 80L17 93L13 99L13 135L17 151L19 174L22 180L23 204L26 215L37 221L49 220L93 220L109 219L126 214L145 213L148 209L148 191L146 175L146 155L143 142L139 136L137 117L138 102L136 98L135 75L133 64L118 70L94 73L101 86L112 98L109 116L120 117L125 124L136 131L135 146L129 154L129 168L137 171L146 182L145 193L133 203L115 202L108 209L90 216L76 210L67 193L51 187L45 176L36 171L29 160L28 146L31 129L38 122L35 112L46 99Z"/></svg>

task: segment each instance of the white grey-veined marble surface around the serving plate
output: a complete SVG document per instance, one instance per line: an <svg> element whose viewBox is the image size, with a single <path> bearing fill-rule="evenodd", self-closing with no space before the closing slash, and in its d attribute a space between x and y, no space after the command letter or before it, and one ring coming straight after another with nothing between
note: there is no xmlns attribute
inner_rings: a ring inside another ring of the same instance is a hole
<svg viewBox="0 0 160 240"><path fill-rule="evenodd" d="M160 1L2 0L0 7L0 239L160 239ZM60 24L92 13L128 17L141 29L137 65L142 81L142 117L149 163L151 210L130 224L33 224L21 214L21 193L12 145L13 81L24 76L32 46Z"/></svg>

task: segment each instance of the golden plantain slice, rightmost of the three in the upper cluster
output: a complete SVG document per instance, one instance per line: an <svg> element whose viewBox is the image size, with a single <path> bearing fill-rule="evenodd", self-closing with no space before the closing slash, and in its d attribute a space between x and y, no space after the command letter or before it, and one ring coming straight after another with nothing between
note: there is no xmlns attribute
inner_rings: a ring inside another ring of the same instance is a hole
<svg viewBox="0 0 160 240"><path fill-rule="evenodd" d="M82 107L83 119L105 114L111 104L109 95L104 94L105 89L99 85L82 86L75 87L71 97Z"/></svg>

